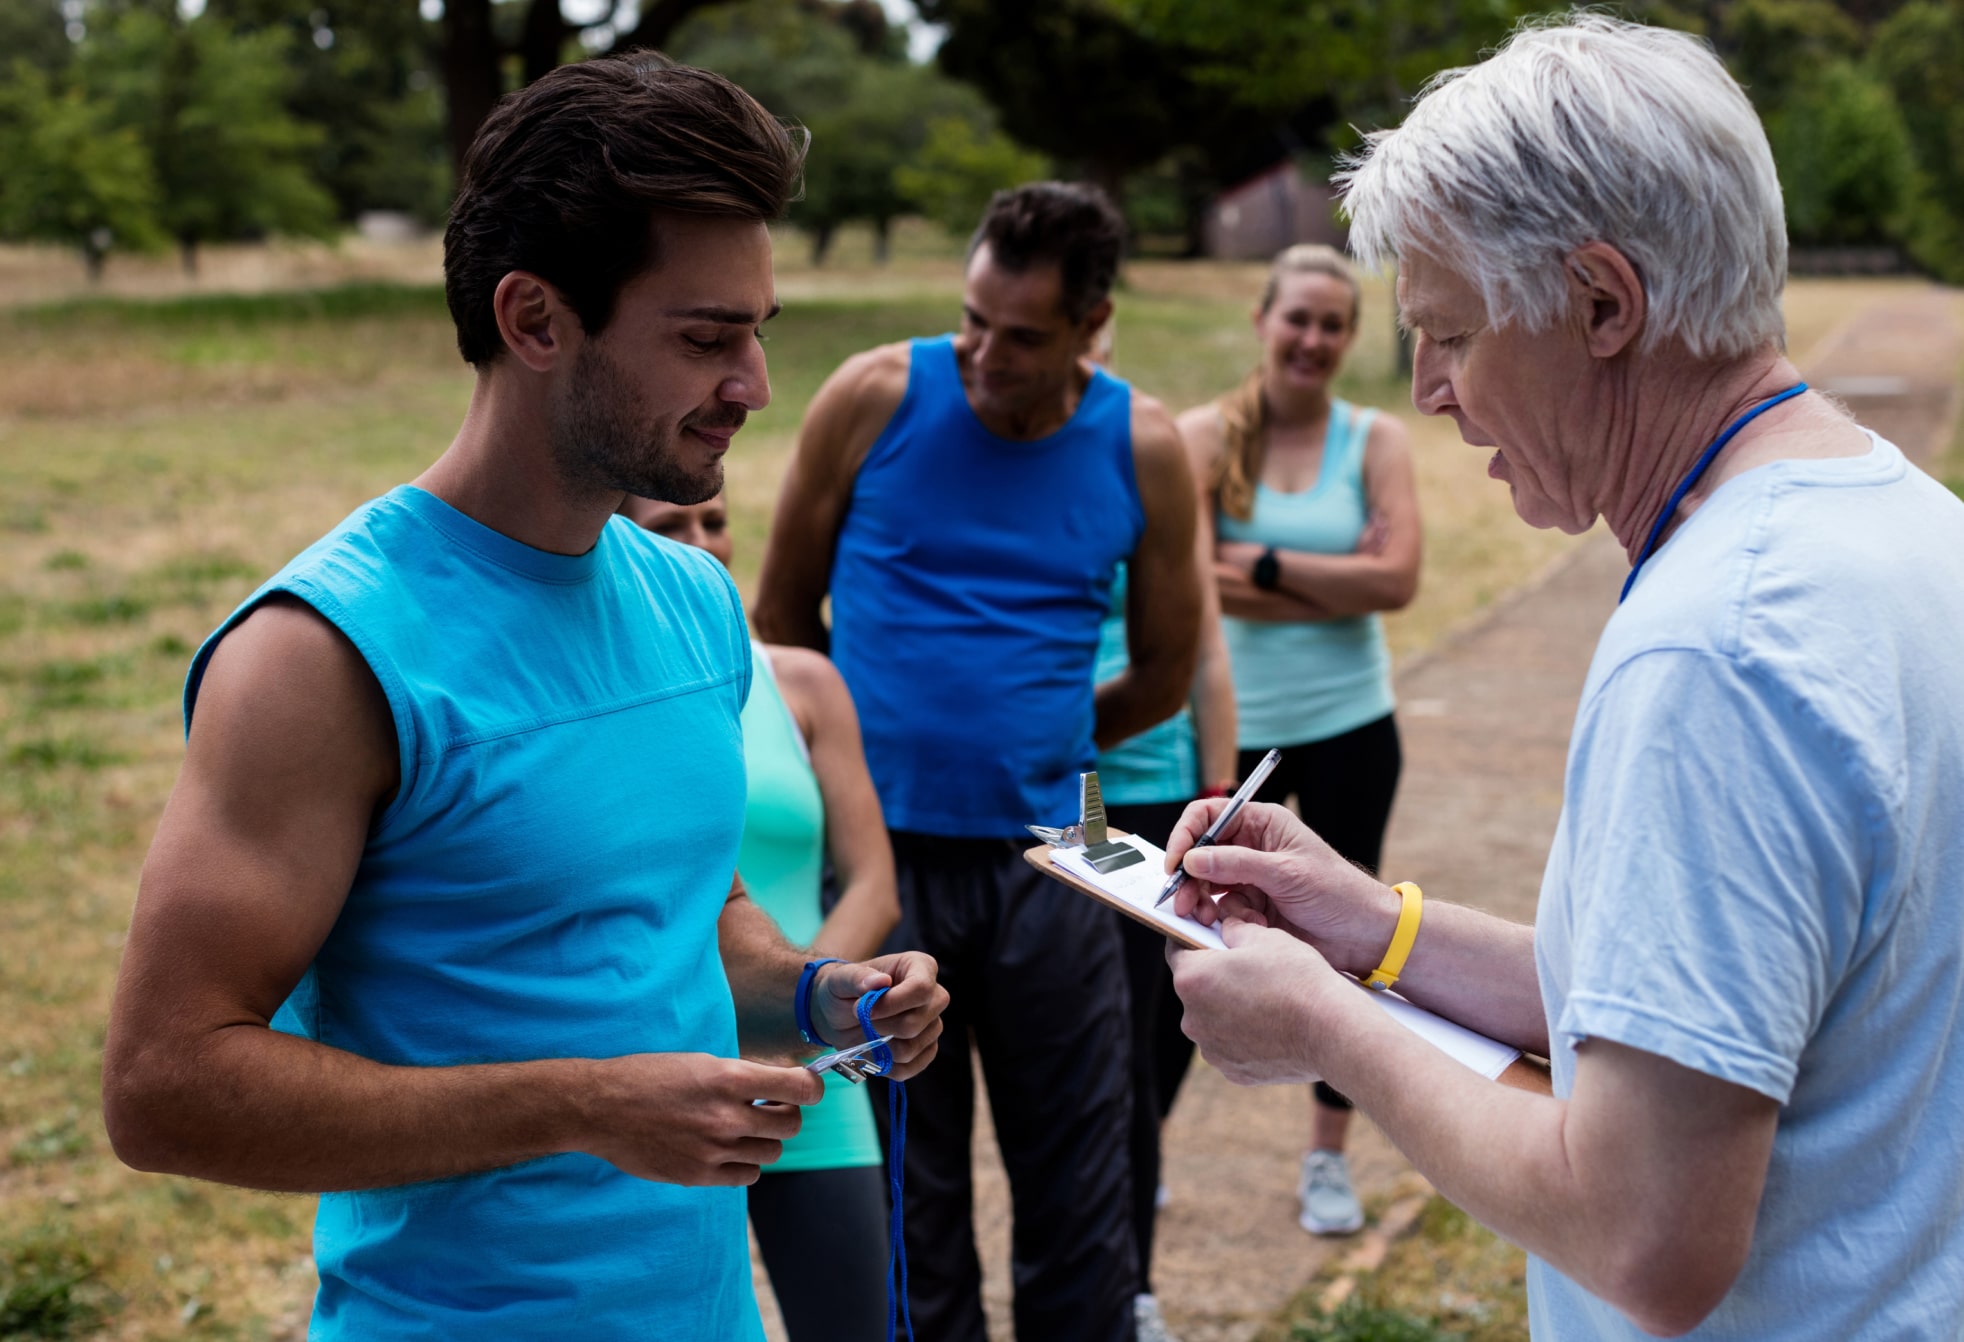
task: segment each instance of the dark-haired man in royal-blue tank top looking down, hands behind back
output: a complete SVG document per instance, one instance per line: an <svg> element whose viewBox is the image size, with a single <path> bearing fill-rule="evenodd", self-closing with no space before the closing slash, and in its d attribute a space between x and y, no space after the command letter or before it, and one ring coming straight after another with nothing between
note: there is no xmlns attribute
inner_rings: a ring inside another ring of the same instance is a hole
<svg viewBox="0 0 1964 1342"><path fill-rule="evenodd" d="M829 650L900 870L894 945L941 963L960 1055L909 1092L907 1263L923 1336L982 1342L974 1032L1015 1199L1025 1342L1133 1336L1125 971L1102 906L1023 861L1096 747L1194 674L1194 483L1167 413L1088 354L1123 222L1090 187L998 193L956 336L860 354L805 417L764 558L764 639ZM1131 660L1094 688L1129 570ZM831 595L831 629L819 615Z"/></svg>

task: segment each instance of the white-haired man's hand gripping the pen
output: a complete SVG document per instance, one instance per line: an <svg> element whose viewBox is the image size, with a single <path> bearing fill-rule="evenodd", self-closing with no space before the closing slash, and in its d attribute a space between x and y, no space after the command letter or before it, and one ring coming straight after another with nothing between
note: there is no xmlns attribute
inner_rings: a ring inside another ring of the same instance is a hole
<svg viewBox="0 0 1964 1342"><path fill-rule="evenodd" d="M1243 806L1212 847L1196 849L1226 806L1194 802L1167 841L1167 870L1184 865L1190 876L1174 910L1204 923L1241 916L1294 931L1351 973L1375 965L1396 925L1398 896L1337 857L1294 811L1265 802Z"/></svg>

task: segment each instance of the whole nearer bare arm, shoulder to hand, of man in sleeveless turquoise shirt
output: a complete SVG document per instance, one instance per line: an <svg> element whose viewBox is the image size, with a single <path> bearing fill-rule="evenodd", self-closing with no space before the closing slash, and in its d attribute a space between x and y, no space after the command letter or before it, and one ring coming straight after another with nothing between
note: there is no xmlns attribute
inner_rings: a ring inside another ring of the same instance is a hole
<svg viewBox="0 0 1964 1342"><path fill-rule="evenodd" d="M220 643L143 865L102 1104L137 1169L275 1191L440 1179L587 1151L666 1183L750 1183L819 1098L801 1069L662 1053L389 1067L269 1030L397 780L354 646L275 599Z"/></svg>

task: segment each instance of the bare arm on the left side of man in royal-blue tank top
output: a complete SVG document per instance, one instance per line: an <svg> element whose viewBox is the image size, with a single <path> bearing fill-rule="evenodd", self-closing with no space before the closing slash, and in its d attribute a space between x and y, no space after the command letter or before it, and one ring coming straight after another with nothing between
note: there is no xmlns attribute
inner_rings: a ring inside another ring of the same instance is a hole
<svg viewBox="0 0 1964 1342"><path fill-rule="evenodd" d="M750 611L764 643L817 652L831 648L821 607L831 586L833 550L852 503L858 468L907 395L909 360L905 344L854 354L811 399L778 491L756 607Z"/></svg>

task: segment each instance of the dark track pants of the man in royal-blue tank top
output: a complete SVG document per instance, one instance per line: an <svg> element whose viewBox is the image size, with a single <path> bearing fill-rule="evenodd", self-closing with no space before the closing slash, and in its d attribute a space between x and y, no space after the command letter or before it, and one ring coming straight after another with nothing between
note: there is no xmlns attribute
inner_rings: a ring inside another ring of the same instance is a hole
<svg viewBox="0 0 1964 1342"><path fill-rule="evenodd" d="M1129 994L1112 912L1025 861L1029 841L894 833L890 949L941 963L941 1053L907 1083L915 1332L986 1342L974 1244L974 1039L1009 1173L1017 1342L1133 1342ZM886 1087L874 1089L882 1132Z"/></svg>

